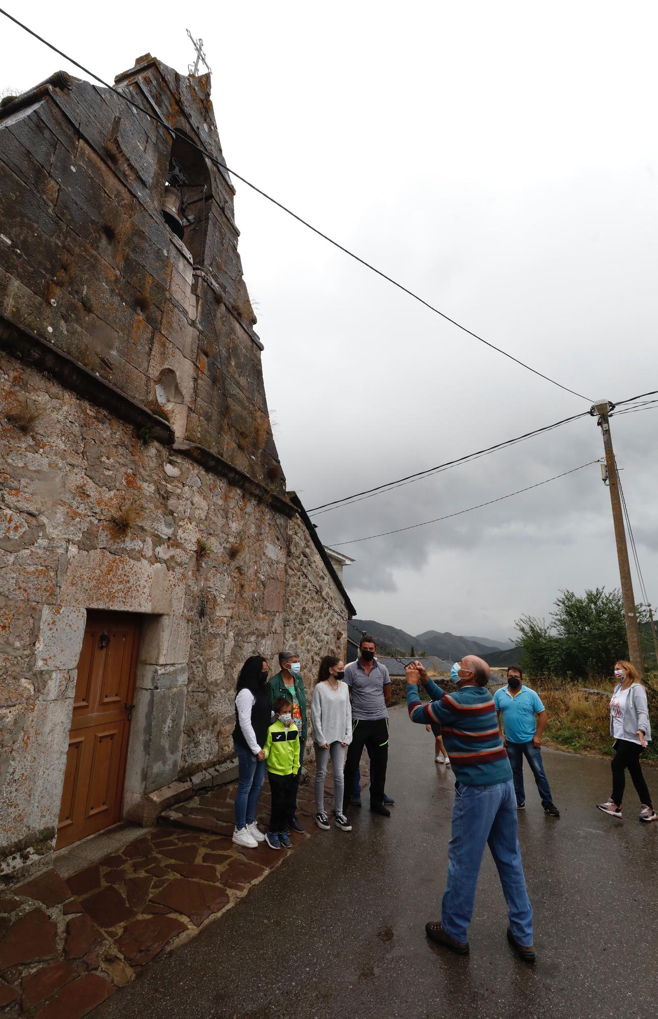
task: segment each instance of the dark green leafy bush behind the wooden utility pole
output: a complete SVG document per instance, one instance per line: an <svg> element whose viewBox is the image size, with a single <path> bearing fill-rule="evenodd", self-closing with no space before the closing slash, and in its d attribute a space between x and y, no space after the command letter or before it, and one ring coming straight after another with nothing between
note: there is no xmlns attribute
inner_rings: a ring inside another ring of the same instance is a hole
<svg viewBox="0 0 658 1019"><path fill-rule="evenodd" d="M597 587L580 597L561 591L551 622L533 615L516 621L522 666L533 676L594 680L610 673L616 658L627 658L623 601L618 590Z"/></svg>

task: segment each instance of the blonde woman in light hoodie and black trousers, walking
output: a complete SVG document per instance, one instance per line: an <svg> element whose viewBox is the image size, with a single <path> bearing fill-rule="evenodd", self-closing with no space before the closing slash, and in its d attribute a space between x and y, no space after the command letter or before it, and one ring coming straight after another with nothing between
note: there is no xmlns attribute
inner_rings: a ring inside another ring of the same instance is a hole
<svg viewBox="0 0 658 1019"><path fill-rule="evenodd" d="M640 682L638 669L629 661L615 662L614 678L617 685L610 700L610 736L615 739L610 765L612 795L605 803L597 803L597 807L612 817L621 817L624 772L627 768L640 797L640 820L655 821L658 817L640 763L640 755L651 741L647 691Z"/></svg>

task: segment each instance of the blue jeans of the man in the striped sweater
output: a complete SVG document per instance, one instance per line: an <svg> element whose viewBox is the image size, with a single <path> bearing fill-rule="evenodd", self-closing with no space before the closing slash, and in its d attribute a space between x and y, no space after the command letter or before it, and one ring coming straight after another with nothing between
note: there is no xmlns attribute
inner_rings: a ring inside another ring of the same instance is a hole
<svg viewBox="0 0 658 1019"><path fill-rule="evenodd" d="M458 942L468 941L478 875L488 845L509 910L511 932L519 945L532 945L533 907L516 838L513 783L511 779L496 786L464 786L455 782L454 790L448 881L441 908L443 929Z"/></svg>

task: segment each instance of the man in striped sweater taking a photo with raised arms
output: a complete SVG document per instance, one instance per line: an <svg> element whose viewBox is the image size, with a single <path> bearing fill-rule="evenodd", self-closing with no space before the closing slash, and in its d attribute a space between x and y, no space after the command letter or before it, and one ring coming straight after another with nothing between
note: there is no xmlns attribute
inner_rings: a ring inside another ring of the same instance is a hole
<svg viewBox="0 0 658 1019"><path fill-rule="evenodd" d="M406 666L406 706L412 721L439 722L454 783L448 880L441 922L425 926L428 937L458 955L469 954L469 924L488 844L509 909L507 940L526 962L534 962L533 907L526 890L516 837L516 798L493 697L486 689L489 665L465 655L452 666L456 690L444 693L420 661ZM423 704L419 682L432 698Z"/></svg>

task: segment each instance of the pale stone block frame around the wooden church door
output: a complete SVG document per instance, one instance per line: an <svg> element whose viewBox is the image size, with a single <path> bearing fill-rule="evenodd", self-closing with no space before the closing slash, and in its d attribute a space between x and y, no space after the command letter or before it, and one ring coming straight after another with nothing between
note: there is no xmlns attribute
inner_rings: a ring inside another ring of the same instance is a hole
<svg viewBox="0 0 658 1019"><path fill-rule="evenodd" d="M61 603L45 605L36 645L36 672L44 677L49 707L57 717L49 799L56 827L66 746L73 710L87 612L129 612L143 619L134 681L121 818L144 822L147 797L178 776L182 752L190 623L183 616L184 578L161 564L112 555L105 549L75 551L61 587ZM60 745L61 744L61 745ZM53 840L54 841L54 840ZM75 845L74 843L72 845Z"/></svg>

